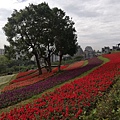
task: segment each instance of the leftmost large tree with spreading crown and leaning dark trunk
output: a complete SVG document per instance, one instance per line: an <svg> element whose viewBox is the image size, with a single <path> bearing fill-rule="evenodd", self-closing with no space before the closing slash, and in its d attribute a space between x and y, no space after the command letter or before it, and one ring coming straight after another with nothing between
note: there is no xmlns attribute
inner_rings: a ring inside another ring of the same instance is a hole
<svg viewBox="0 0 120 120"><path fill-rule="evenodd" d="M14 10L3 27L7 41L19 54L35 55L39 74L42 74L40 55L42 55L45 31L50 27L51 9L48 4L29 5L19 12Z"/></svg>

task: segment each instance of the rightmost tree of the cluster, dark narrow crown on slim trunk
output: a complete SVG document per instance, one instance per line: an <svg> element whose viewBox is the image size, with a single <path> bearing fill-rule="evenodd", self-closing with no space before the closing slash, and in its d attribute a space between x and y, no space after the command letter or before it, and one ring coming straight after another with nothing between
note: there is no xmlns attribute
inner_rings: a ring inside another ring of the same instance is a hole
<svg viewBox="0 0 120 120"><path fill-rule="evenodd" d="M65 12L58 8L53 8L55 15L55 46L56 53L59 55L58 70L60 71L63 55L73 56L77 51L77 35L74 28L74 22Z"/></svg>

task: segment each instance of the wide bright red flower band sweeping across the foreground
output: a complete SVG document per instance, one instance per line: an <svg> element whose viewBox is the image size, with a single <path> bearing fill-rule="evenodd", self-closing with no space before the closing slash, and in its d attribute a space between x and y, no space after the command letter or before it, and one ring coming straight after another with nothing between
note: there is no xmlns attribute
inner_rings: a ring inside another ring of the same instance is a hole
<svg viewBox="0 0 120 120"><path fill-rule="evenodd" d="M120 74L120 53L105 55L110 62L92 73L47 93L31 104L2 113L1 120L77 119L85 107L113 83Z"/></svg>

